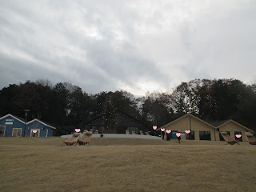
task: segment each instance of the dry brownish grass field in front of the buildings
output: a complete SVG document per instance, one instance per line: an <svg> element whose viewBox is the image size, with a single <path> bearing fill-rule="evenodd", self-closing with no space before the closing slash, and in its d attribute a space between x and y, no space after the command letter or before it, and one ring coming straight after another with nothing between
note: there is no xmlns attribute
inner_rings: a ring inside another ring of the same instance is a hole
<svg viewBox="0 0 256 192"><path fill-rule="evenodd" d="M256 146L91 138L0 138L0 191L256 191Z"/></svg>

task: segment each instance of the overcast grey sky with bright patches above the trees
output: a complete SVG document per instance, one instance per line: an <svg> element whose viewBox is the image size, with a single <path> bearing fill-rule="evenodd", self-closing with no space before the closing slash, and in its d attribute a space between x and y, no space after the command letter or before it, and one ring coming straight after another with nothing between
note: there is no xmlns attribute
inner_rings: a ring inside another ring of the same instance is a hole
<svg viewBox="0 0 256 192"><path fill-rule="evenodd" d="M0 89L71 82L135 96L194 78L256 81L256 1L0 0Z"/></svg>

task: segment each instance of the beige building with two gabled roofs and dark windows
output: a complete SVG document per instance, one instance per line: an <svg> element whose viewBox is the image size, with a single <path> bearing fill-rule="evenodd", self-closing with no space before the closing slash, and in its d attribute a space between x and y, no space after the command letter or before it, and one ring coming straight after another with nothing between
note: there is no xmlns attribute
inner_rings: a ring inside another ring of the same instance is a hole
<svg viewBox="0 0 256 192"><path fill-rule="evenodd" d="M209 140L209 141L222 141L222 136L219 134L219 131L227 131L230 134L231 138L235 137L235 134L242 134L240 141L246 141L245 131L253 130L246 128L245 126L240 125L238 122L233 120L228 120L224 122L214 123L210 125L208 122L202 121L200 118L194 117L192 114L186 114L181 118L174 120L158 128L158 130L165 129L165 138L166 130L171 130L170 139L177 138L176 133L181 133L182 138L191 138L192 140ZM190 134L186 134L186 131L190 130Z"/></svg>

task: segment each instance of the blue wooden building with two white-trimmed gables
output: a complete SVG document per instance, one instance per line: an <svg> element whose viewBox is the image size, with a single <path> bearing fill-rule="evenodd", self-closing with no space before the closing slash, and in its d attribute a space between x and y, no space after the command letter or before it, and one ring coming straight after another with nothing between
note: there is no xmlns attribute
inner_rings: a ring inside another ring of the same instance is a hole
<svg viewBox="0 0 256 192"><path fill-rule="evenodd" d="M54 126L35 118L27 122L12 114L6 114L0 118L0 137L51 137L54 134ZM25 133L24 133L25 130Z"/></svg>

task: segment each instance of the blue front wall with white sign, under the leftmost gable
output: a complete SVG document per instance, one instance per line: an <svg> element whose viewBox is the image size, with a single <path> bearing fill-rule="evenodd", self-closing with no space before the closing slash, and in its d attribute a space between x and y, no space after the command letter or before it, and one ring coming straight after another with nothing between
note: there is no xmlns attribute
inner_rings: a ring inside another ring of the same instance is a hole
<svg viewBox="0 0 256 192"><path fill-rule="evenodd" d="M7 123L8 122L13 122L13 124L8 125L8 124L6 124L6 122ZM6 133L5 133L4 137L11 137L13 128L22 128L22 135L23 135L25 124L22 123L22 122L19 122L16 118L12 118L11 116L8 116L8 117L3 118L2 120L0 120L0 126L6 126Z"/></svg>

